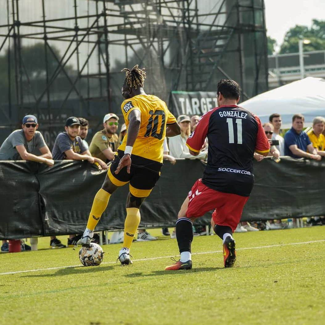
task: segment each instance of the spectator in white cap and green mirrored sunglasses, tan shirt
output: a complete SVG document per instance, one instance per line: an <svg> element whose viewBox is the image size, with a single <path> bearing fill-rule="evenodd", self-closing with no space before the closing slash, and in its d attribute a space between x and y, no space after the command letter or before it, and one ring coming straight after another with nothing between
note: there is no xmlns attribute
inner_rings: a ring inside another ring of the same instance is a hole
<svg viewBox="0 0 325 325"><path fill-rule="evenodd" d="M117 135L118 116L108 113L104 116L104 129L98 131L91 140L89 151L93 157L99 158L104 162L110 162L114 159L114 154L119 145L119 136Z"/></svg>

